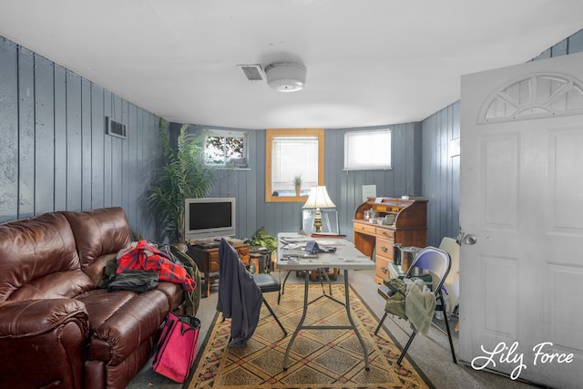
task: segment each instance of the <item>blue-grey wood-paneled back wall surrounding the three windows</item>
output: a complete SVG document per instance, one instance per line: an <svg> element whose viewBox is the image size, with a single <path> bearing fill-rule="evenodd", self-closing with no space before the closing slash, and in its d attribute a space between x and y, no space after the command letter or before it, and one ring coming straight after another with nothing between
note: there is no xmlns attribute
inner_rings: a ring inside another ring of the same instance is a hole
<svg viewBox="0 0 583 389"><path fill-rule="evenodd" d="M363 185L375 184L378 196L421 195L421 124L391 128L393 169L361 171L343 170L344 133L372 128L325 130L324 183L338 210L340 232L351 241L353 214L363 202ZM250 169L223 171L210 196L237 198L237 231L241 238L251 237L261 227L271 234L302 230L303 203L265 202L265 130L247 132Z"/></svg>

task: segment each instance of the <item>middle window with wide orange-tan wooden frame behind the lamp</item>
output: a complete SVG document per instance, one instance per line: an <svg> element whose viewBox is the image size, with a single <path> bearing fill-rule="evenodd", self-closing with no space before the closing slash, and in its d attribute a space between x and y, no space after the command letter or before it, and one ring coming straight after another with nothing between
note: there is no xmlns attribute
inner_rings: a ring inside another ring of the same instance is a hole
<svg viewBox="0 0 583 389"><path fill-rule="evenodd" d="M265 136L265 200L304 202L324 181L323 129L268 129ZM302 177L299 195L294 178Z"/></svg>

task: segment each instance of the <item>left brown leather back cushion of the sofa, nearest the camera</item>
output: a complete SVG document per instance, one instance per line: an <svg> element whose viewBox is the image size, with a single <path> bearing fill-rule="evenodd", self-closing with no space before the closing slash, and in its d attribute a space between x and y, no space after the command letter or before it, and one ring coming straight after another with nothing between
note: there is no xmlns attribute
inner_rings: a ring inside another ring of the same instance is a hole
<svg viewBox="0 0 583 389"><path fill-rule="evenodd" d="M58 212L2 224L0 237L0 301L55 272L80 269L73 231Z"/></svg>

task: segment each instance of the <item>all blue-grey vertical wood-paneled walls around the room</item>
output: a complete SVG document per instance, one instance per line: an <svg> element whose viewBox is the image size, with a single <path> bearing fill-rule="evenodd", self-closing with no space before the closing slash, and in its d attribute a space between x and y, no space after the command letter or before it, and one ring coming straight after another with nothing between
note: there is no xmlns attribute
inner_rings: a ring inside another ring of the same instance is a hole
<svg viewBox="0 0 583 389"><path fill-rule="evenodd" d="M583 31L533 60L583 51ZM105 134L105 118L128 125L128 138ZM146 192L160 163L159 118L0 37L0 222L51 210L122 206L134 231L156 239ZM327 129L325 184L339 210L341 233L352 239L352 217L362 186L379 196L424 196L427 243L459 229L459 157L448 154L459 137L459 101L420 123L394 128L391 170L343 170L343 135L370 128ZM265 131L248 130L250 169L225 170L211 196L238 199L240 237L265 227L300 230L302 203L266 203Z"/></svg>

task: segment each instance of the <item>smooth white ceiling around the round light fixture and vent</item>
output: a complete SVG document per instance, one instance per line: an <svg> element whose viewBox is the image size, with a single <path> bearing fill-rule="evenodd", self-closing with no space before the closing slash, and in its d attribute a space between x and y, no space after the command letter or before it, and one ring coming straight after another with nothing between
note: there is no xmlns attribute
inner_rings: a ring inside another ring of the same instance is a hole
<svg viewBox="0 0 583 389"><path fill-rule="evenodd" d="M581 0L0 0L0 36L170 121L352 128L422 120L460 76L583 28ZM300 92L238 65L296 61Z"/></svg>

